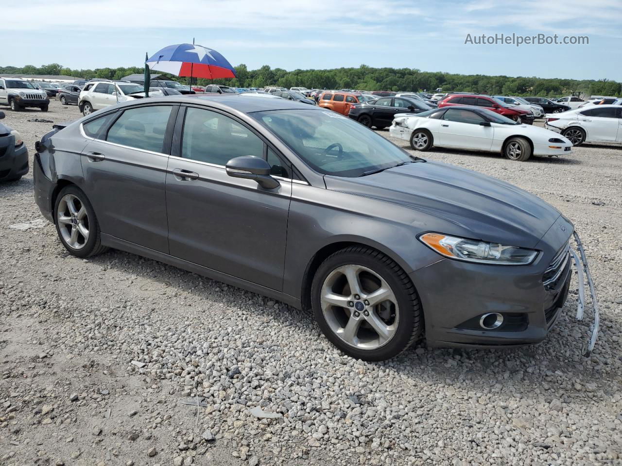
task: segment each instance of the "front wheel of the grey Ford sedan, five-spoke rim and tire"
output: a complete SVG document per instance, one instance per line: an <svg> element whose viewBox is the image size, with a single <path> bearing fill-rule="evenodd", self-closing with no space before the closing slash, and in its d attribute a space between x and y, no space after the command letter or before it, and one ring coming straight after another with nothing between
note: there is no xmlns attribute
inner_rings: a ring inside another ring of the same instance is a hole
<svg viewBox="0 0 622 466"><path fill-rule="evenodd" d="M311 286L323 334L345 354L381 361L406 350L422 331L419 297L391 258L364 246L330 255Z"/></svg>

